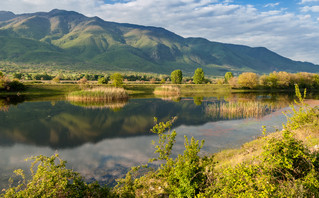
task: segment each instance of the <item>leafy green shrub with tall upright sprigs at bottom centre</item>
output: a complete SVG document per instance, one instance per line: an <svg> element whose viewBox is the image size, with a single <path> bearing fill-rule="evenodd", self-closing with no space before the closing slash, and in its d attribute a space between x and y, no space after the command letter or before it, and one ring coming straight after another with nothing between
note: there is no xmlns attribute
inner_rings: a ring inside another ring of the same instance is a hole
<svg viewBox="0 0 319 198"><path fill-rule="evenodd" d="M198 156L200 149L203 147L203 141L199 143L194 138L189 142L185 137L185 151L178 155L177 158L171 158L171 151L175 143L176 132L168 131L172 121L156 124L152 132L159 135L158 144L155 145L158 157L151 159L149 162L160 161L160 167L140 178L137 171L147 166L133 168L126 178L119 181L117 192L123 197L195 197L207 187L208 175L210 175L212 158ZM208 166L210 164L211 166Z"/></svg>

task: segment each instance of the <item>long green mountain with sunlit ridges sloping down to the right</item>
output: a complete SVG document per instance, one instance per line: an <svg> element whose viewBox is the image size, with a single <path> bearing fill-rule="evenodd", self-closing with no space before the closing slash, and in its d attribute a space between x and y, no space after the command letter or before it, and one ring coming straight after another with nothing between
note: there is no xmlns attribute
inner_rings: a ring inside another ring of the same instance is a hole
<svg viewBox="0 0 319 198"><path fill-rule="evenodd" d="M227 71L319 72L266 48L183 38L159 27L104 21L64 10L15 15L0 12L0 61L61 68L192 74Z"/></svg>

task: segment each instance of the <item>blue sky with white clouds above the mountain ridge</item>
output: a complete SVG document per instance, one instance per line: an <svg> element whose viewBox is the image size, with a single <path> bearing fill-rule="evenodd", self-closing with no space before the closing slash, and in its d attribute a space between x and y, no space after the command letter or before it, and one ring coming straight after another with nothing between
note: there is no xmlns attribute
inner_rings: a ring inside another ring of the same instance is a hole
<svg viewBox="0 0 319 198"><path fill-rule="evenodd" d="M264 46L319 64L319 0L5 0L16 14L73 10L107 21L164 27L183 37Z"/></svg>

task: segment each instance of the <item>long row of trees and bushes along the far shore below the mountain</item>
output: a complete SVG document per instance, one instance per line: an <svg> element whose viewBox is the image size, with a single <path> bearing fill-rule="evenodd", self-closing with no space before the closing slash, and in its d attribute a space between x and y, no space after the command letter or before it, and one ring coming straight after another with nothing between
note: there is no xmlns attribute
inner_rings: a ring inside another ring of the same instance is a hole
<svg viewBox="0 0 319 198"><path fill-rule="evenodd" d="M107 84L112 81L114 73L59 73L50 75L47 73L13 73L11 79L18 80L52 80L54 82L65 81L98 81L99 84ZM293 89L295 84L300 88L319 89L319 75L314 73L288 73L284 71L258 75L253 72L244 72L239 76L233 76L227 72L224 78L210 79L205 76L202 68L197 68L194 75L184 77L181 70L172 71L171 75L131 73L121 74L124 83L150 83L150 84L229 84L232 88L241 89Z"/></svg>

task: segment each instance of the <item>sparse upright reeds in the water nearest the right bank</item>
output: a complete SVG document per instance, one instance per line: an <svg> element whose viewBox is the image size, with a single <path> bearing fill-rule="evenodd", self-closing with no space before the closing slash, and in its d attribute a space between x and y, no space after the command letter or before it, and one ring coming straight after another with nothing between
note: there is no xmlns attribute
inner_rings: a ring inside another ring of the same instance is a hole
<svg viewBox="0 0 319 198"><path fill-rule="evenodd" d="M210 104L206 107L206 113L214 118L224 119L261 118L280 108L283 108L283 106L275 103L261 101L231 101Z"/></svg>

